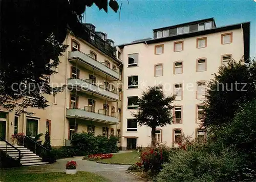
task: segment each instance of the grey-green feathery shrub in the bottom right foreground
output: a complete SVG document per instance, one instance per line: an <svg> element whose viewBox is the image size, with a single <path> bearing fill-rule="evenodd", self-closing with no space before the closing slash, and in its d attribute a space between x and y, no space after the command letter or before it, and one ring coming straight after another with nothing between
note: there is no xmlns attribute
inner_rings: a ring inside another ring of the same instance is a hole
<svg viewBox="0 0 256 182"><path fill-rule="evenodd" d="M177 150L154 179L162 181L232 181L237 176L238 157L234 150L208 153L203 148Z"/></svg>

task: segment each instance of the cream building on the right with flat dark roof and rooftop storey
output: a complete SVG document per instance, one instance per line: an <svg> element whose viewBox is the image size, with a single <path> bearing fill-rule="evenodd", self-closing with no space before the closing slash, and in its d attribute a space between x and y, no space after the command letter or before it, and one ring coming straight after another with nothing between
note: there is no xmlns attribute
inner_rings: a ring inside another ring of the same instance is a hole
<svg viewBox="0 0 256 182"><path fill-rule="evenodd" d="M177 94L173 123L159 127L156 140L175 147L182 133L204 137L200 117L207 81L230 58L249 58L250 22L217 27L214 18L153 30L154 38L118 45L123 62L122 149L146 147L151 128L139 126L132 112L147 86Z"/></svg>

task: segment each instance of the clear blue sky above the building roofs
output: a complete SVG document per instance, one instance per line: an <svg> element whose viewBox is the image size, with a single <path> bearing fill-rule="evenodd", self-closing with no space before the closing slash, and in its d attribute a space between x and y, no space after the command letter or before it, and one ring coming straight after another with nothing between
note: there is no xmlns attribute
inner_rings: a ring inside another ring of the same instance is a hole
<svg viewBox="0 0 256 182"><path fill-rule="evenodd" d="M129 1L129 4L128 4ZM115 45L153 37L153 29L214 17L216 26L250 21L250 56L256 57L256 0L117 0L115 13L87 7L85 21L105 32Z"/></svg>

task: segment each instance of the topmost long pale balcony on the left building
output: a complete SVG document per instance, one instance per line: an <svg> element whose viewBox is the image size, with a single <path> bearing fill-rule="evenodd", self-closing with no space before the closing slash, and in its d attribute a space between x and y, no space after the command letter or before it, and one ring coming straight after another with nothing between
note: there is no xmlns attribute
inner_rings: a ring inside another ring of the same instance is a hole
<svg viewBox="0 0 256 182"><path fill-rule="evenodd" d="M104 63L101 63L92 57L90 57L87 54L84 54L83 52L80 51L70 51L68 55L68 60L70 62L77 62L79 66L83 66L86 69L89 69L89 67L93 67L94 69L98 70L101 72L101 75L106 74L111 76L115 80L120 79L120 74L116 70L110 69L108 66L106 66ZM103 76L102 75L102 76Z"/></svg>

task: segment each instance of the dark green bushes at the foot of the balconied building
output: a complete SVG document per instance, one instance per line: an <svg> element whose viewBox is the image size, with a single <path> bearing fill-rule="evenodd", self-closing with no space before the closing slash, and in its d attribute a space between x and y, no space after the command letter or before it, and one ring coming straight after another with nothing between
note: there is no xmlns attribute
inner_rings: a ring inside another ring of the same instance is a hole
<svg viewBox="0 0 256 182"><path fill-rule="evenodd" d="M94 136L93 133L75 133L71 140L76 156L83 156L96 153L118 152L118 138L110 136L106 138L102 135Z"/></svg>

